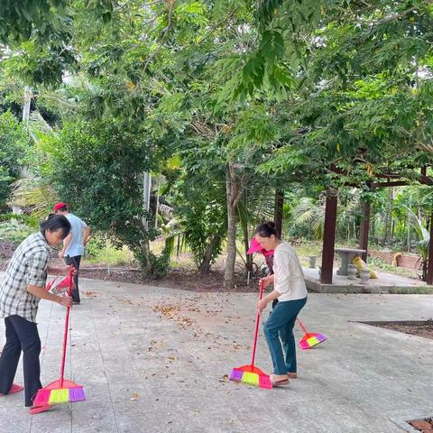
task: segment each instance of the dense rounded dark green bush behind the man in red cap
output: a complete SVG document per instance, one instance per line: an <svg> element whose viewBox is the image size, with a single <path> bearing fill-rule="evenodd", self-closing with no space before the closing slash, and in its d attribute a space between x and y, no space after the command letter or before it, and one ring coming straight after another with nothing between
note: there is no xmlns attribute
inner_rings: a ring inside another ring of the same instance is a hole
<svg viewBox="0 0 433 433"><path fill-rule="evenodd" d="M65 124L51 143L47 172L73 212L96 230L132 249L148 234L143 226L143 171L150 170L150 143L134 125L105 119Z"/></svg>

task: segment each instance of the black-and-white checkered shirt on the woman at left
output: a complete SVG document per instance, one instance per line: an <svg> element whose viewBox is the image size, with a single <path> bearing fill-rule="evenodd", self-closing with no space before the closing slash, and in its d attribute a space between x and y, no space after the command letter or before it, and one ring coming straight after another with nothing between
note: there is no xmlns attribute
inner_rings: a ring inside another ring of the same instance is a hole
<svg viewBox="0 0 433 433"><path fill-rule="evenodd" d="M0 318L17 315L36 321L40 299L27 287L45 287L49 261L50 246L40 232L23 240L0 281Z"/></svg>

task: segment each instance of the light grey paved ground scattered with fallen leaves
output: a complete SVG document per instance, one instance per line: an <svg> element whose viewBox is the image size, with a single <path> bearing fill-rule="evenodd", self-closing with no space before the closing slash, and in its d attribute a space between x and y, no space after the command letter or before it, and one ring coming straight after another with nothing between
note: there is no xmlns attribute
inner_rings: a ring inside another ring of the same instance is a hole
<svg viewBox="0 0 433 433"><path fill-rule="evenodd" d="M226 379L249 361L253 294L91 280L82 292L67 373L88 401L31 417L22 394L1 397L1 433L398 433L392 419L433 415L433 340L350 321L431 318L432 295L311 294L302 318L328 341L299 353L289 388L268 391ZM59 372L63 318L41 302L44 383ZM257 364L270 368L263 336Z"/></svg>

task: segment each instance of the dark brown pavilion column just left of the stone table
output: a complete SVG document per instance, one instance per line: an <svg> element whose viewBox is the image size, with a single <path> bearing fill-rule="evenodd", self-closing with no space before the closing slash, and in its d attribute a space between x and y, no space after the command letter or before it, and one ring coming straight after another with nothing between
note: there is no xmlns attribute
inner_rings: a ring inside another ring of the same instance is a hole
<svg viewBox="0 0 433 433"><path fill-rule="evenodd" d="M320 281L332 283L334 268L334 247L336 244L336 190L327 193L325 207L325 228L323 233L322 271Z"/></svg>

